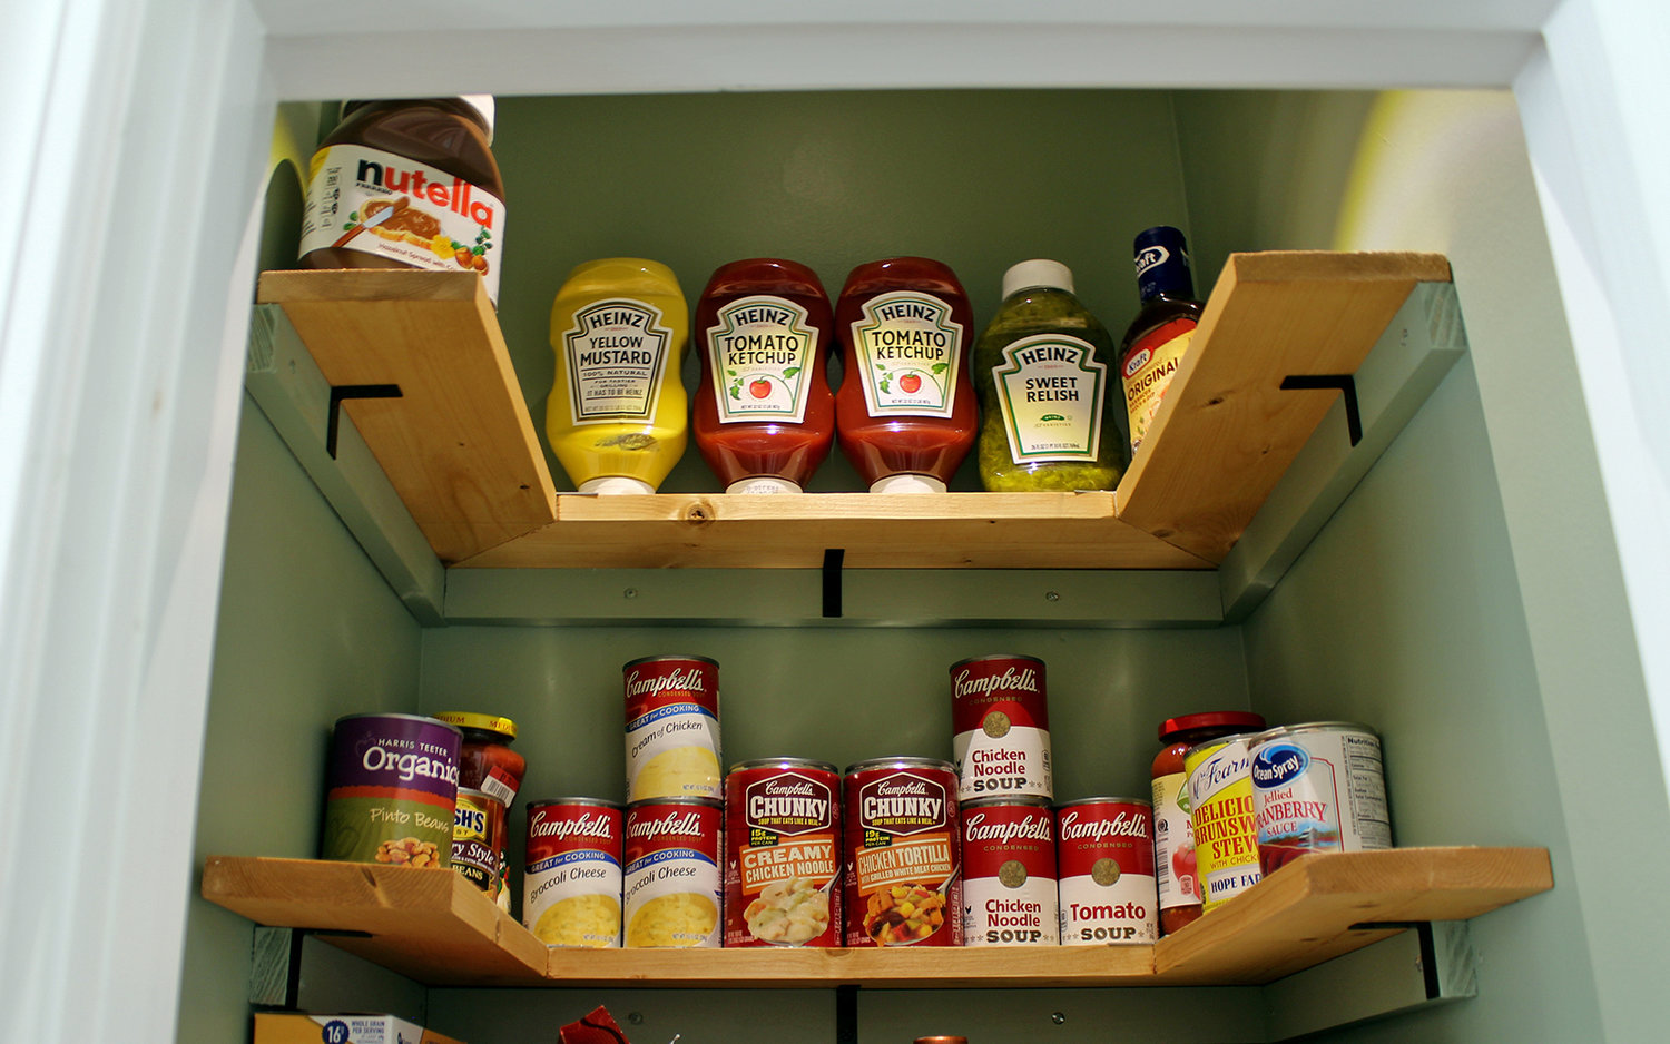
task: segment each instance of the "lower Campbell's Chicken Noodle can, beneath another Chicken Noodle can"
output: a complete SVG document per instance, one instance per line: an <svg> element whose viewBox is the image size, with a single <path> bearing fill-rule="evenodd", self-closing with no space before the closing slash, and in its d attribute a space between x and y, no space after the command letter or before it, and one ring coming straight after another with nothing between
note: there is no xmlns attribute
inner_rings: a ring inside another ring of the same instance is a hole
<svg viewBox="0 0 1670 1044"><path fill-rule="evenodd" d="M962 937L967 945L1055 945L1055 817L1042 797L964 802Z"/></svg>

